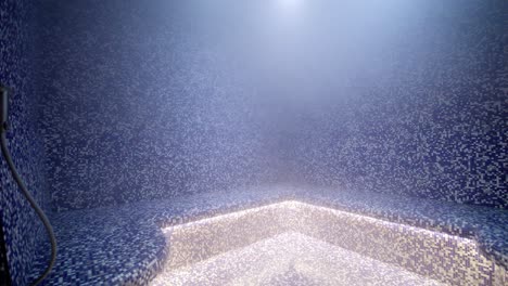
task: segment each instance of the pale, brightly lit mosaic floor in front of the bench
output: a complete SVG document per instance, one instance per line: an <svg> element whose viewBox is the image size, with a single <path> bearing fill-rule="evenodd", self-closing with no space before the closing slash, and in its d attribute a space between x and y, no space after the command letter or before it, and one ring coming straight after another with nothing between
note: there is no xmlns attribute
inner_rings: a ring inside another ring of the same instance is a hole
<svg viewBox="0 0 508 286"><path fill-rule="evenodd" d="M193 265L166 269L165 285L445 285L295 232L227 251Z"/></svg>

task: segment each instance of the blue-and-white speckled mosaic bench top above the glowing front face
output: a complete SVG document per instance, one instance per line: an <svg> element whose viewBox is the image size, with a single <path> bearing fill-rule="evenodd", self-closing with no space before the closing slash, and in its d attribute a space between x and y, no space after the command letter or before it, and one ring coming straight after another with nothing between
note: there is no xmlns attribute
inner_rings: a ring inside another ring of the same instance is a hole
<svg viewBox="0 0 508 286"><path fill-rule="evenodd" d="M167 258L161 227L296 199L474 238L484 255L508 266L508 211L366 192L272 185L208 192L117 207L58 213L54 271L43 285L143 285ZM49 249L49 245L42 249ZM38 260L38 269L46 258Z"/></svg>

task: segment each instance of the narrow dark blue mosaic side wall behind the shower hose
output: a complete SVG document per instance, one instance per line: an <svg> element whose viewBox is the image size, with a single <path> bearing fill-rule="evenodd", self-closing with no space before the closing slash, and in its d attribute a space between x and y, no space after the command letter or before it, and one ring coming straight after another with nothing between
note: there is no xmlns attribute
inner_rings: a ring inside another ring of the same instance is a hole
<svg viewBox="0 0 508 286"><path fill-rule="evenodd" d="M0 82L12 88L9 147L29 191L48 210L45 151L37 130L39 96L35 70L35 24L31 1L0 1ZM0 221L3 222L9 271L13 285L26 285L37 246L43 240L43 227L17 190L3 158L0 159Z"/></svg>

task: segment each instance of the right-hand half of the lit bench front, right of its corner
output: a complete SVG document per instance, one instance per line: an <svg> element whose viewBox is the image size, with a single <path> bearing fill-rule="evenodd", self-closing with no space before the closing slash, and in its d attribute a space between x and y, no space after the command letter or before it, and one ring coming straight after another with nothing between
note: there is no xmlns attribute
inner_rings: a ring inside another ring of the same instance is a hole
<svg viewBox="0 0 508 286"><path fill-rule="evenodd" d="M449 285L500 285L471 240L333 209L299 206L294 230Z"/></svg>

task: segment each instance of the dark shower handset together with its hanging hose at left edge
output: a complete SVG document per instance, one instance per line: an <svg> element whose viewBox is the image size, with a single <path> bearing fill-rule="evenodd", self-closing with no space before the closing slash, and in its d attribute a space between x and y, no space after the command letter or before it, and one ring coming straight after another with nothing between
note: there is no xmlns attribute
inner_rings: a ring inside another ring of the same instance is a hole
<svg viewBox="0 0 508 286"><path fill-rule="evenodd" d="M39 285L51 272L51 269L54 265L54 261L56 260L56 239L54 237L53 233L53 227L51 227L51 224L48 220L48 217L46 217L45 212L42 209L37 205L37 202L34 199L34 197L30 195L28 192L28 188L26 187L25 183L23 182L23 179L21 178L20 173L16 170L16 167L14 166L14 162L12 161L11 154L9 153L8 144L7 144L7 130L8 130L8 125L7 125L7 119L8 119L8 89L4 87L0 87L0 95L1 95L1 101L0 101L0 113L1 113L1 126L0 126L0 136L1 136L1 147L2 147L2 154L3 157L5 158L5 161L9 166L9 169L11 170L12 177L14 178L14 181L16 181L17 185L20 186L21 193L25 196L25 198L28 200L30 204L31 208L35 210L37 216L40 218L42 221L42 224L46 227L46 231L48 232L48 236L50 238L51 243L51 259L46 268L45 272L37 277L31 285Z"/></svg>

